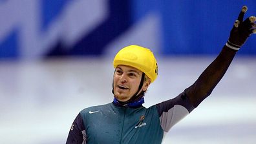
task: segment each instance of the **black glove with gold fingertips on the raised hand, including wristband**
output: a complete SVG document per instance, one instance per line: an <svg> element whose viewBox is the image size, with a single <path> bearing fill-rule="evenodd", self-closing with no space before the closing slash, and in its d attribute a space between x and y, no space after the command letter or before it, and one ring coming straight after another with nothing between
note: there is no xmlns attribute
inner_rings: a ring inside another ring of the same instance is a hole
<svg viewBox="0 0 256 144"><path fill-rule="evenodd" d="M239 48L244 45L246 39L251 36L251 34L256 34L256 17L251 16L246 20L244 19L244 14L248 10L247 6L242 6L242 10L239 14L237 21L230 32L228 42L226 46L234 50L239 50Z"/></svg>

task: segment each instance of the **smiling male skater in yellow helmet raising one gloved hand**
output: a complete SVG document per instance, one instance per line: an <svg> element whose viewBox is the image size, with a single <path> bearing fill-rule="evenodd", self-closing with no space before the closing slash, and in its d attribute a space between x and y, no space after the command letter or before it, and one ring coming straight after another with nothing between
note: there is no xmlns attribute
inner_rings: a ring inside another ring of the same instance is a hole
<svg viewBox="0 0 256 144"><path fill-rule="evenodd" d="M243 6L219 56L191 87L162 103L142 106L144 94L158 74L153 53L142 46L123 48L114 57L112 93L114 101L81 110L69 132L67 143L161 143L164 133L211 94L233 57L251 34L256 17L243 21Z"/></svg>

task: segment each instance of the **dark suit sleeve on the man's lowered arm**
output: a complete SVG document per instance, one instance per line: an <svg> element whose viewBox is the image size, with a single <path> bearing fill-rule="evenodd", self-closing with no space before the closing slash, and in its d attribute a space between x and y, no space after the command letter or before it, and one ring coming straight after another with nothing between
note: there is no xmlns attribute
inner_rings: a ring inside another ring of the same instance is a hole
<svg viewBox="0 0 256 144"><path fill-rule="evenodd" d="M87 136L85 126L83 125L83 119L81 118L81 114L78 114L69 130L66 144L86 144L86 141Z"/></svg>

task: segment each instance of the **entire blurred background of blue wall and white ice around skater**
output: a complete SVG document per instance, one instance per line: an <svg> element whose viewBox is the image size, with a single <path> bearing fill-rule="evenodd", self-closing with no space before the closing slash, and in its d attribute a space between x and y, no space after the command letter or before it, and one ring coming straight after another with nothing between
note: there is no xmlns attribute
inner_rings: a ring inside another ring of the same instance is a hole
<svg viewBox="0 0 256 144"><path fill-rule="evenodd" d="M0 0L0 143L65 143L86 107L112 101L112 59L150 48L158 79L145 107L175 98L219 54L256 1ZM226 76L163 143L255 143L256 35Z"/></svg>

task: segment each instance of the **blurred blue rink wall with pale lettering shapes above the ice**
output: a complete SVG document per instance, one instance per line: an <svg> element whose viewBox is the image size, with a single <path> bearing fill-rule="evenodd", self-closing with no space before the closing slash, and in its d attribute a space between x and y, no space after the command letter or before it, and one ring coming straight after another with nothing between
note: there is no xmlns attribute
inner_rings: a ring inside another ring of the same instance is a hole
<svg viewBox="0 0 256 144"><path fill-rule="evenodd" d="M103 56L136 44L164 56L217 54L251 1L0 1L0 59ZM255 36L241 55L255 56Z"/></svg>

